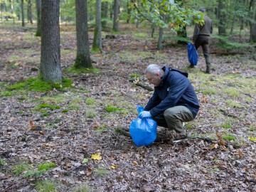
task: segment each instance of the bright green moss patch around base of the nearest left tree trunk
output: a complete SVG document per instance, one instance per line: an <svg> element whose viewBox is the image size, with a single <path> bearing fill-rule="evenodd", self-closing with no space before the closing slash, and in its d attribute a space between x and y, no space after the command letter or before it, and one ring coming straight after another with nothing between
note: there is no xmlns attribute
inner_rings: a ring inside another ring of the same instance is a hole
<svg viewBox="0 0 256 192"><path fill-rule="evenodd" d="M39 78L31 78L22 82L17 82L14 85L9 85L9 90L27 90L27 91L36 91L36 92L47 92L53 90L63 90L65 87L72 87L72 81L69 79L63 79L62 82L47 82Z"/></svg>

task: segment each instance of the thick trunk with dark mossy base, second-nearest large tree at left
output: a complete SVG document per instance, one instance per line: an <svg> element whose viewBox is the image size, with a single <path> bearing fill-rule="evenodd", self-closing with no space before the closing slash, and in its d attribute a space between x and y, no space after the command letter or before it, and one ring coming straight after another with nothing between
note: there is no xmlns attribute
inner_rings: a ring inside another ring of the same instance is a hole
<svg viewBox="0 0 256 192"><path fill-rule="evenodd" d="M75 68L92 68L87 26L87 0L75 0L75 19L78 47Z"/></svg>

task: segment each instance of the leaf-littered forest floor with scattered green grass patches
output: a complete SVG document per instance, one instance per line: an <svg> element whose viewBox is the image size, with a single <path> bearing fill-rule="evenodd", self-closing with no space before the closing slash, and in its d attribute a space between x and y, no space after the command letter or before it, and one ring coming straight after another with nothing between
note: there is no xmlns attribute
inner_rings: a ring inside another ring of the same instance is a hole
<svg viewBox="0 0 256 192"><path fill-rule="evenodd" d="M208 75L201 48L188 69L186 46L167 39L157 50L150 33L121 31L102 33L104 52L91 55L100 72L78 75L65 70L75 60L75 27L62 26L63 77L73 87L32 92L9 86L38 76L40 38L34 27L0 26L0 191L256 191L255 50L229 55L213 44ZM137 147L117 132L152 94L129 81L137 74L151 86L150 63L188 71L201 105L186 124L190 139L158 127L168 139Z"/></svg>

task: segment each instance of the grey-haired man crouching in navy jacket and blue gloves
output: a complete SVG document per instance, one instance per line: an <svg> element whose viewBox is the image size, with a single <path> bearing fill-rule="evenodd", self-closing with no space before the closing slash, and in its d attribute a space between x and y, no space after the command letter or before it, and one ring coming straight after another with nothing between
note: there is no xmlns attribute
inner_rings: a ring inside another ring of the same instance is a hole
<svg viewBox="0 0 256 192"><path fill-rule="evenodd" d="M198 98L187 78L188 73L151 64L146 68L145 75L154 85L154 94L139 117L152 117L157 125L186 136L184 122L195 119L199 110Z"/></svg>

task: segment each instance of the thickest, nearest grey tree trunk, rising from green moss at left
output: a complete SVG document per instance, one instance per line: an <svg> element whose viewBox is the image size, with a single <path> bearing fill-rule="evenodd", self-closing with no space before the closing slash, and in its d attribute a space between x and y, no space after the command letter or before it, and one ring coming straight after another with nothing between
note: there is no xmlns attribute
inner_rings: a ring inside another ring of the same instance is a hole
<svg viewBox="0 0 256 192"><path fill-rule="evenodd" d="M42 1L41 78L62 80L60 66L60 0Z"/></svg>

